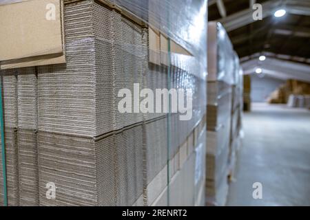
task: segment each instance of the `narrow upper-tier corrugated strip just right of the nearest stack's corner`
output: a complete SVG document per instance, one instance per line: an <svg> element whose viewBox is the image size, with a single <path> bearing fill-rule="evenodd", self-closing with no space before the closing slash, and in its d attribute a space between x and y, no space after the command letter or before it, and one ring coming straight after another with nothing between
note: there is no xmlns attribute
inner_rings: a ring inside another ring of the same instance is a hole
<svg viewBox="0 0 310 220"><path fill-rule="evenodd" d="M118 15L120 17L121 15ZM114 59L112 57L112 11L94 7L94 41L96 79L96 135L114 130L116 94L114 85ZM120 19L120 18L119 18ZM119 20L118 19L118 20ZM116 94L117 95L117 94Z"/></svg>

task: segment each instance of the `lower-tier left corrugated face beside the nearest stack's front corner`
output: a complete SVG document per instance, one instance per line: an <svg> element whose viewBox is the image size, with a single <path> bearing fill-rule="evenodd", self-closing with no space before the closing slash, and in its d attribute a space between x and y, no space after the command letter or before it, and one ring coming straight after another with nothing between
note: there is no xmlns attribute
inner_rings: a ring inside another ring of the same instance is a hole
<svg viewBox="0 0 310 220"><path fill-rule="evenodd" d="M95 206L96 155L94 140L38 133L41 206ZM47 199L46 184L56 186L56 199Z"/></svg>

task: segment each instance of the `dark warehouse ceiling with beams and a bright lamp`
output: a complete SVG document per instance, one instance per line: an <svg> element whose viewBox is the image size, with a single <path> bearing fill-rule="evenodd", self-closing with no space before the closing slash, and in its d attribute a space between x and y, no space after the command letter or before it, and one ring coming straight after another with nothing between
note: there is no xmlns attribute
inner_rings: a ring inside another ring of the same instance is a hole
<svg viewBox="0 0 310 220"><path fill-rule="evenodd" d="M262 21L252 18L254 3L262 4ZM225 26L242 62L265 54L310 63L310 0L209 0L208 4L209 21ZM274 17L280 8L287 14Z"/></svg>

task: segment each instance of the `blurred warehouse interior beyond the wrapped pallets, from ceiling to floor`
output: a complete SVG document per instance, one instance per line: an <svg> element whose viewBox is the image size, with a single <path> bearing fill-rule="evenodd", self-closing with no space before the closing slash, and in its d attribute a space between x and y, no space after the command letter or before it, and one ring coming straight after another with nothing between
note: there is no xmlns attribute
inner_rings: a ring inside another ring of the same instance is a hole
<svg viewBox="0 0 310 220"><path fill-rule="evenodd" d="M255 3L262 5L261 21L248 19ZM287 102L290 94L309 94L309 84L300 91L289 84L310 82L310 2L224 0L208 5L209 20L228 31L251 80L251 111L244 113L244 139L227 206L309 206L309 104ZM287 13L276 17L281 9ZM255 182L262 184L262 199L252 197Z"/></svg>

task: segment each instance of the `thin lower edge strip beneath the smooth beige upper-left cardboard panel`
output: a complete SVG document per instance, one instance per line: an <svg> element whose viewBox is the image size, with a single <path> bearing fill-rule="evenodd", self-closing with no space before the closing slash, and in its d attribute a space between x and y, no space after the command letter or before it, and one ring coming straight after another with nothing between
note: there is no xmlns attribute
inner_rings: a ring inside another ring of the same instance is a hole
<svg viewBox="0 0 310 220"><path fill-rule="evenodd" d="M38 58L27 58L18 60L18 63L10 63L1 65L1 69L12 69L12 68L20 68L20 67L34 67L34 66L41 66L41 65L52 65L52 64L59 64L65 63L65 55L56 56L47 58L48 56L39 56Z"/></svg>

